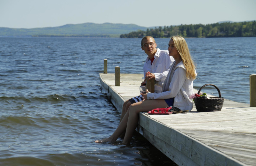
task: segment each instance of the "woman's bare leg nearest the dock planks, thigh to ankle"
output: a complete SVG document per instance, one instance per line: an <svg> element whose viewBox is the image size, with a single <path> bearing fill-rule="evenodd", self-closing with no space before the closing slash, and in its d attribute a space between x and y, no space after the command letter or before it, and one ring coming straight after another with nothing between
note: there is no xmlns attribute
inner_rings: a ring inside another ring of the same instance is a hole
<svg viewBox="0 0 256 166"><path fill-rule="evenodd" d="M127 113L129 113L129 117L127 119L127 127L123 140L123 144L129 145L132 139L132 135L139 120L139 113L150 111L156 108L165 108L168 107L167 103L164 100L145 100L142 102L133 103ZM126 116L126 115L125 115Z"/></svg>

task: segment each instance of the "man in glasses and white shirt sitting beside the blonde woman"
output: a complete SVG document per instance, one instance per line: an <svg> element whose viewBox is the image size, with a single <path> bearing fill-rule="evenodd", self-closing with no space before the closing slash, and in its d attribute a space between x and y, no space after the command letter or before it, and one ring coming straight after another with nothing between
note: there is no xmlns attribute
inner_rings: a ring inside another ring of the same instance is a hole
<svg viewBox="0 0 256 166"><path fill-rule="evenodd" d="M155 79L155 92L161 93L164 80L169 72L169 67L174 62L172 56L169 56L168 50L156 48L156 41L151 36L145 36L141 40L141 49L148 55L143 66L144 77L146 79ZM145 85L145 81L141 85ZM123 119L127 109L132 103L142 101L142 96L133 97L124 102L120 121Z"/></svg>

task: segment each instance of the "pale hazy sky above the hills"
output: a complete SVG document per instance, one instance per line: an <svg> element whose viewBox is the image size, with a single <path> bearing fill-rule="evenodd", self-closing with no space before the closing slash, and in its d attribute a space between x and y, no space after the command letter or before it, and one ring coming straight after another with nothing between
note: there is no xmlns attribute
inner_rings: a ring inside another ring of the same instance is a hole
<svg viewBox="0 0 256 166"><path fill-rule="evenodd" d="M123 23L139 26L256 20L256 0L0 0L0 27Z"/></svg>

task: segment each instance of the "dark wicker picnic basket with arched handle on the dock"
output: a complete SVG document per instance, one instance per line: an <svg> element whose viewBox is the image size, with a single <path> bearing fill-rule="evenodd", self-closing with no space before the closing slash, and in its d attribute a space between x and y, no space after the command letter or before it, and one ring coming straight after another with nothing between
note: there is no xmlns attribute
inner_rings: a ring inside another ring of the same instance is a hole
<svg viewBox="0 0 256 166"><path fill-rule="evenodd" d="M224 102L224 98L221 97L220 94L220 89L213 85L213 84L205 84L204 86L202 86L197 94L200 94L200 91L206 87L206 86L213 86L215 87L218 92L219 92L219 97L210 97L210 99L203 99L203 98L196 98L194 99L195 101L195 105L196 105L196 110L198 112L208 112L208 111L221 111L223 102Z"/></svg>

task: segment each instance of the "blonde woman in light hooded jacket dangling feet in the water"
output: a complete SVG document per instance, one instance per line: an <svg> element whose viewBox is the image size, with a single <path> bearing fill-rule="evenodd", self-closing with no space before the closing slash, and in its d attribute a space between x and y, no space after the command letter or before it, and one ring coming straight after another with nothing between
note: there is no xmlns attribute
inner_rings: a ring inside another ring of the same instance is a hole
<svg viewBox="0 0 256 166"><path fill-rule="evenodd" d="M162 92L157 94L147 91L146 94L141 94L144 100L133 103L129 107L116 131L110 137L95 142L114 142L126 130L123 144L129 145L138 124L140 112L170 106L181 110L192 109L193 102L189 96L193 94L193 80L196 79L196 72L187 42L181 36L172 36L168 46L169 56L172 56L175 61L164 81Z"/></svg>

